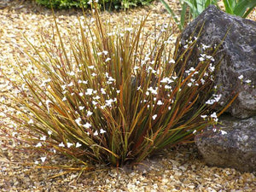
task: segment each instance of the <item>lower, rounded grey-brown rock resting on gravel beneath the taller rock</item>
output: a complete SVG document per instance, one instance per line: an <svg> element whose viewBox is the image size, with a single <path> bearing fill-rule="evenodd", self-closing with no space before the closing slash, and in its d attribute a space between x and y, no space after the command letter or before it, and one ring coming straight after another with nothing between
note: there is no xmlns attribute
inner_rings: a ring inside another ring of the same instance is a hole
<svg viewBox="0 0 256 192"><path fill-rule="evenodd" d="M256 172L256 117L223 117L221 131L209 129L195 137L197 148L210 166Z"/></svg>

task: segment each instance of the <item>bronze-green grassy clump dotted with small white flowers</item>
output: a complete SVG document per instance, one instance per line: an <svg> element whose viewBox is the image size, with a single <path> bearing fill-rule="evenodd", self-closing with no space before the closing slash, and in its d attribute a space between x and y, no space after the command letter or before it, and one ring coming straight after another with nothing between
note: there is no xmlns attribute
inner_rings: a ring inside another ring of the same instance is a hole
<svg viewBox="0 0 256 192"><path fill-rule="evenodd" d="M40 51L30 43L36 55L26 52L30 61L13 66L20 80L9 78L17 94L9 105L15 113L6 114L41 154L36 164L51 164L55 153L84 165L137 163L216 124L212 55L185 70L196 37L176 58L171 25L147 32L144 18L113 31L92 13L90 22L79 22L68 49L55 19L53 40L43 41ZM176 61L183 61L178 72Z"/></svg>

